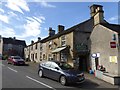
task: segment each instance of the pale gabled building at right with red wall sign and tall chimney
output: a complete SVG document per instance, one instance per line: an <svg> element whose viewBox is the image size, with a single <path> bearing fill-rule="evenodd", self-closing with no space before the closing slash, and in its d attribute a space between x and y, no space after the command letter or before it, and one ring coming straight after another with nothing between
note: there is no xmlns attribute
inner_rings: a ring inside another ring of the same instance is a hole
<svg viewBox="0 0 120 90"><path fill-rule="evenodd" d="M120 84L120 25L110 24L104 20L102 6L93 5L91 18L94 28L90 35L90 66L95 70L96 77L112 84ZM98 70L104 67L104 72Z"/></svg>

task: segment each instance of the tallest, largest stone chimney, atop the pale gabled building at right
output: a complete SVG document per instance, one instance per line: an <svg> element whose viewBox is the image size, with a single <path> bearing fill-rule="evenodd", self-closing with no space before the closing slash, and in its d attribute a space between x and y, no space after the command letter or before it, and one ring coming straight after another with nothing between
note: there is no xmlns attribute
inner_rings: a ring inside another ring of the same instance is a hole
<svg viewBox="0 0 120 90"><path fill-rule="evenodd" d="M94 25L100 24L100 23L104 23L104 11L103 11L103 6L101 5L96 5L93 4L92 6L90 6L90 14L91 14L91 18L94 19Z"/></svg>

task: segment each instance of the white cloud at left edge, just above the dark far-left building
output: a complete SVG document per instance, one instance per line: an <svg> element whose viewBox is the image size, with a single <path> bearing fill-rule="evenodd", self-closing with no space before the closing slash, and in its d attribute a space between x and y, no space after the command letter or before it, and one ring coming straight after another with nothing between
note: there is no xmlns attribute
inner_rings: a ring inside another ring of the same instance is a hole
<svg viewBox="0 0 120 90"><path fill-rule="evenodd" d="M3 37L13 37L15 36L15 31L12 29L12 28L5 28L3 30L0 30L0 34L3 36Z"/></svg>

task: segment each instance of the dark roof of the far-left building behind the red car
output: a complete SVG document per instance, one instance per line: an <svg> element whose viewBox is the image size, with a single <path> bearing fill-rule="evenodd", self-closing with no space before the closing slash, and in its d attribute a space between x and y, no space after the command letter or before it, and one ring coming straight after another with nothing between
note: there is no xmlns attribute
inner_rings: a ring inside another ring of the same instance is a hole
<svg viewBox="0 0 120 90"><path fill-rule="evenodd" d="M17 40L17 39L13 39L13 38L4 38L4 37L3 37L3 44L26 46L26 42L24 40Z"/></svg>

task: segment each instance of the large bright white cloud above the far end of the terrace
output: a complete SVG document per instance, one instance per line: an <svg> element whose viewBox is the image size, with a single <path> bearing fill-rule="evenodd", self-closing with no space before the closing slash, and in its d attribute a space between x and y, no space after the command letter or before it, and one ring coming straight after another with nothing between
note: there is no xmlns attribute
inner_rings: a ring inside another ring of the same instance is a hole
<svg viewBox="0 0 120 90"><path fill-rule="evenodd" d="M41 17L27 17L27 23L24 24L25 32L22 34L23 38L36 37L41 33L41 24L44 23L45 18Z"/></svg>

